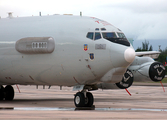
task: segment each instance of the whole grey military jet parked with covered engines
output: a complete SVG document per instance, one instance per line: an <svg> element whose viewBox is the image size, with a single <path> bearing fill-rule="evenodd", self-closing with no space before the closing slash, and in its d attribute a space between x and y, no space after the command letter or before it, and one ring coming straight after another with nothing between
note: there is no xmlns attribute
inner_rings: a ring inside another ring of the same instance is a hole
<svg viewBox="0 0 167 120"><path fill-rule="evenodd" d="M97 89L161 81L163 64L135 53L124 33L94 17L52 15L0 19L0 100L12 85L73 86L76 107L91 107ZM6 86L6 87L4 87Z"/></svg>

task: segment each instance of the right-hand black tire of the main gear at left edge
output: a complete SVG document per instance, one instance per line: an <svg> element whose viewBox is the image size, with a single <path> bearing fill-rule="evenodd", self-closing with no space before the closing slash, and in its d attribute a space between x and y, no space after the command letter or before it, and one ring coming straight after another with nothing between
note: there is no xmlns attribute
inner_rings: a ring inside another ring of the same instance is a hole
<svg viewBox="0 0 167 120"><path fill-rule="evenodd" d="M14 89L11 85L7 85L4 89L5 100L13 100L14 98Z"/></svg>

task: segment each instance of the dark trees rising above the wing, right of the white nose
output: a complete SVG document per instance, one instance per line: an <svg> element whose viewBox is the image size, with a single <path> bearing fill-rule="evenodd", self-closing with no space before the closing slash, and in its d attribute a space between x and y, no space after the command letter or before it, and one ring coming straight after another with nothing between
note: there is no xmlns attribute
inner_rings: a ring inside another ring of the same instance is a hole
<svg viewBox="0 0 167 120"><path fill-rule="evenodd" d="M142 48L138 47L136 49L136 52L140 52L140 51L152 51L152 50L153 50L152 45L150 45L150 47L149 47L149 42L145 40L145 42L142 42Z"/></svg>

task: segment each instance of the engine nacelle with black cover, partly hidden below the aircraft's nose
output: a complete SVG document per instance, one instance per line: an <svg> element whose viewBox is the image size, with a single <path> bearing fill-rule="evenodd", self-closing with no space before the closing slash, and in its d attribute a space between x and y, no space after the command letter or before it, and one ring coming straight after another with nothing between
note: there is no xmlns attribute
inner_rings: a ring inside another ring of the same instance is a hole
<svg viewBox="0 0 167 120"><path fill-rule="evenodd" d="M133 79L133 73L127 70L122 77L122 81L118 83L100 83L97 86L101 89L126 89L132 85Z"/></svg>

